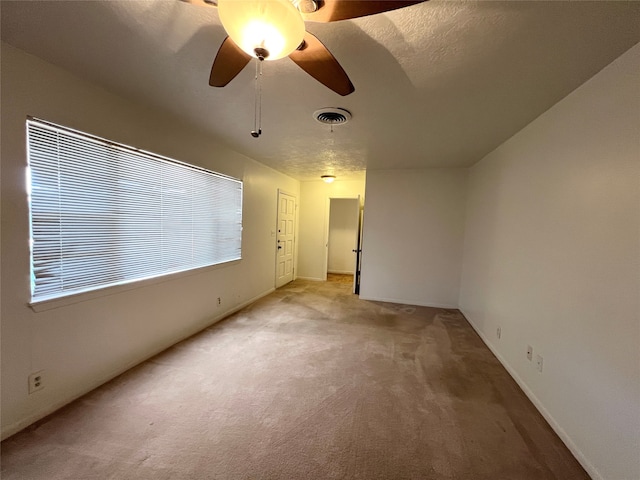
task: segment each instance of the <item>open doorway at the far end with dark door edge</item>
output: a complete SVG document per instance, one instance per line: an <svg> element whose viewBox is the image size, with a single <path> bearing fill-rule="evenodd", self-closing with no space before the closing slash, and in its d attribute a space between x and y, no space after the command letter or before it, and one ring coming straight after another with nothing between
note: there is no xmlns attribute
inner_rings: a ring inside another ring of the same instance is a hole
<svg viewBox="0 0 640 480"><path fill-rule="evenodd" d="M330 198L327 231L327 275L349 275L360 290L360 197Z"/></svg>

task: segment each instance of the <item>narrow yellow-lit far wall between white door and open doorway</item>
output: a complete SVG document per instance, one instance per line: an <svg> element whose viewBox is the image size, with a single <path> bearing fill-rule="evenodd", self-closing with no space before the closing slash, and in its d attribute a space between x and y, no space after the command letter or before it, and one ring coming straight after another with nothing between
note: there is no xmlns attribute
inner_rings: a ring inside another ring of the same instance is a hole
<svg viewBox="0 0 640 480"><path fill-rule="evenodd" d="M352 174L327 184L322 180L300 182L297 277L326 280L329 199L356 198L364 202L365 177Z"/></svg>

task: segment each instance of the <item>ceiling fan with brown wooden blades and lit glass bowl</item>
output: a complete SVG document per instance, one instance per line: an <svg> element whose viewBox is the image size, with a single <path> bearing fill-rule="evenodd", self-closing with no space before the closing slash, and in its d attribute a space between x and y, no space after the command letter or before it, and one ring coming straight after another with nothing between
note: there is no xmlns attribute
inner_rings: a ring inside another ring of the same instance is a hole
<svg viewBox="0 0 640 480"><path fill-rule="evenodd" d="M426 0L182 0L218 7L228 36L213 61L209 85L224 87L249 63L288 56L340 95L355 88L344 69L304 22L336 22L388 12Z"/></svg>

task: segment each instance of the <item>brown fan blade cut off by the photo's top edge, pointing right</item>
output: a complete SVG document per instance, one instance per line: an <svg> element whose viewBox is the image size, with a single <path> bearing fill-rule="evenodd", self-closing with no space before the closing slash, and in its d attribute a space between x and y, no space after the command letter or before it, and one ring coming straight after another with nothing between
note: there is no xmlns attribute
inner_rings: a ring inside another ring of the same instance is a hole
<svg viewBox="0 0 640 480"><path fill-rule="evenodd" d="M316 0L318 10L303 13L311 22L337 22L408 7L427 0Z"/></svg>

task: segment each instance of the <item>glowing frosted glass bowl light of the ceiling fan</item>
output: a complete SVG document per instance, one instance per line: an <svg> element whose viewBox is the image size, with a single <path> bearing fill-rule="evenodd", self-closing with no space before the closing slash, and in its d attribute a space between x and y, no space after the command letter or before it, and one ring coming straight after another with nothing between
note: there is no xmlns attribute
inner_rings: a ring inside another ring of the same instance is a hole
<svg viewBox="0 0 640 480"><path fill-rule="evenodd" d="M304 20L290 0L218 0L218 12L229 37L252 57L278 60L304 38Z"/></svg>

